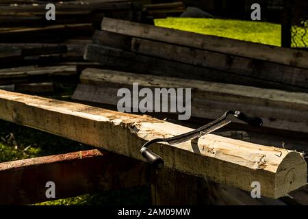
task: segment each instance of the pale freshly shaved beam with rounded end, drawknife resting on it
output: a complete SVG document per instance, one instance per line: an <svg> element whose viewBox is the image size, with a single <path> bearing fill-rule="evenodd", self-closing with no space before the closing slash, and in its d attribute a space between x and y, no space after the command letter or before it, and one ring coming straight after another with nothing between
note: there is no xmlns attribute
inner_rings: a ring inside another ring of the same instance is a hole
<svg viewBox="0 0 308 219"><path fill-rule="evenodd" d="M148 116L3 90L0 118L142 160L140 147L147 140L192 131ZM280 156L275 150L280 151ZM279 198L307 183L305 159L295 151L212 134L199 138L198 142L155 144L153 151L164 157L166 168L172 170L206 176L211 181L247 191L253 181L259 181L262 196Z"/></svg>

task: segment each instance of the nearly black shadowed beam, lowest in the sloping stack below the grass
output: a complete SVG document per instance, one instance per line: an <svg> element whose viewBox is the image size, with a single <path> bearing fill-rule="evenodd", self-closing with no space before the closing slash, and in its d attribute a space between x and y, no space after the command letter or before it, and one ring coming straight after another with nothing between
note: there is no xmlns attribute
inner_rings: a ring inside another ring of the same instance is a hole
<svg viewBox="0 0 308 219"><path fill-rule="evenodd" d="M215 70L211 68L203 68L191 64L179 63L149 55L142 55L103 47L99 45L89 44L86 48L84 59L92 62L99 62L105 68L114 70L129 71L131 73L151 74L159 76L198 79L205 81L219 81L222 83L245 84L247 86L255 86L256 84L262 88L281 88L281 83L272 81L264 81L244 75L232 75L229 72ZM164 68L162 68L164 66ZM294 89L294 86L284 86L287 90ZM296 88L300 90L300 88ZM306 89L300 90L305 92Z"/></svg>

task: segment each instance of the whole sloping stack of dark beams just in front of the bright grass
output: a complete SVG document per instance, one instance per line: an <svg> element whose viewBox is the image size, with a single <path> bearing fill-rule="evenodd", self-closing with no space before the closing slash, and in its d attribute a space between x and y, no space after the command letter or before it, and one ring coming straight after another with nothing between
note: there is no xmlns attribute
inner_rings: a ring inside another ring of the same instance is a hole
<svg viewBox="0 0 308 219"><path fill-rule="evenodd" d="M308 91L308 52L104 18L86 60L130 73Z"/></svg>

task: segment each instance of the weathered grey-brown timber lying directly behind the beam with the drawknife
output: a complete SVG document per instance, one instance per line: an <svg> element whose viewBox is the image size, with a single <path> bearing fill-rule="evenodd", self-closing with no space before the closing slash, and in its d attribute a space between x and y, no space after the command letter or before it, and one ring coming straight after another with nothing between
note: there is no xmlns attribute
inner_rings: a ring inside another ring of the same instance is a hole
<svg viewBox="0 0 308 219"><path fill-rule="evenodd" d="M118 88L192 88L192 116L215 119L227 110L261 116L264 127L307 132L308 94L233 84L137 75L88 68L81 73L74 99L116 105ZM140 97L143 99L143 97ZM155 101L153 101L155 102ZM296 115L296 116L295 116ZM242 123L240 120L237 123Z"/></svg>

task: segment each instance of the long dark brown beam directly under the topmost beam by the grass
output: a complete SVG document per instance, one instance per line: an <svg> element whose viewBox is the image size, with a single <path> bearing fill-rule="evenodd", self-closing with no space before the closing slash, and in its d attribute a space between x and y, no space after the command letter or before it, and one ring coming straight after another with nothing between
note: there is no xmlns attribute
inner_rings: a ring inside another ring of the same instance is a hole
<svg viewBox="0 0 308 219"><path fill-rule="evenodd" d="M296 90L296 87L308 88L308 69L140 38L132 39L131 50L145 55L154 55L155 57L162 57L177 62L224 70L237 75L245 75L281 83L282 90L285 84L294 86L292 90Z"/></svg>

